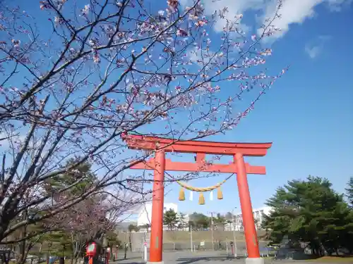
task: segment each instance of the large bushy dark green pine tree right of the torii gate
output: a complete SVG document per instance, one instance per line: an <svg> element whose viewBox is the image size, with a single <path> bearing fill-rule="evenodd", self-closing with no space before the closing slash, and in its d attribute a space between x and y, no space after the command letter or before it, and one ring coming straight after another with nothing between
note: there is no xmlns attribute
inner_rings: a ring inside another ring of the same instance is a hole
<svg viewBox="0 0 353 264"><path fill-rule="evenodd" d="M314 254L337 253L347 237L351 210L332 184L320 177L289 181L268 199L272 213L265 217L263 227L272 230L270 239L276 243L285 235L292 241L310 243Z"/></svg>

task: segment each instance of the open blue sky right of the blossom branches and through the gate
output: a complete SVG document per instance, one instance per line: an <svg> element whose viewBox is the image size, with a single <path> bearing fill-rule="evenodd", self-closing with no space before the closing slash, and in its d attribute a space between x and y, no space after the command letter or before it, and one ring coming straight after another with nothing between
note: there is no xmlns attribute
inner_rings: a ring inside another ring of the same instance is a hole
<svg viewBox="0 0 353 264"><path fill-rule="evenodd" d="M229 7L229 15L244 13L243 27L251 34L256 32L255 25L263 15L271 11L273 0L263 2L207 1L205 8L206 12L211 11L223 3ZM44 21L39 4L32 6L28 1L23 7ZM282 19L276 23L283 30L272 39L274 52L266 66L273 73L287 65L290 70L236 129L208 138L223 142L273 142L267 156L247 158L251 164L267 168L267 175L249 175L254 208L263 206L275 189L288 180L308 175L327 177L337 191L343 192L353 176L353 31L349 27L353 25L352 1L287 0ZM213 37L217 43L217 28ZM222 93L227 95L227 89L232 89L232 84L222 87ZM190 156L180 160L190 161ZM191 184L205 187L225 177L194 180ZM205 206L198 206L197 195L192 202L179 202L177 184L166 191L164 201L178 203L179 210L185 213L225 213L240 207L235 177L223 186L225 199L209 201L205 196Z"/></svg>

